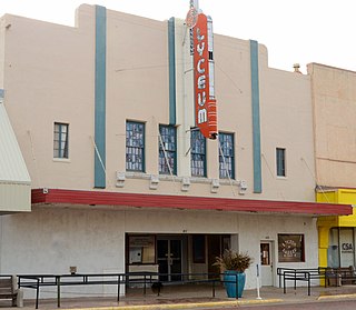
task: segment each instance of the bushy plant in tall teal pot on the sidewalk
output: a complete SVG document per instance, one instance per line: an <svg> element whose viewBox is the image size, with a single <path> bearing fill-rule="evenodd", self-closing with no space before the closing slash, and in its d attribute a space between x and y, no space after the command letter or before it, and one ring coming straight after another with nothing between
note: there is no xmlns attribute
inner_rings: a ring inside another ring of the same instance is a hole
<svg viewBox="0 0 356 310"><path fill-rule="evenodd" d="M228 297L240 298L245 288L245 270L253 263L253 258L247 252L235 252L225 250L216 258L214 266L219 267L224 273L224 284Z"/></svg>

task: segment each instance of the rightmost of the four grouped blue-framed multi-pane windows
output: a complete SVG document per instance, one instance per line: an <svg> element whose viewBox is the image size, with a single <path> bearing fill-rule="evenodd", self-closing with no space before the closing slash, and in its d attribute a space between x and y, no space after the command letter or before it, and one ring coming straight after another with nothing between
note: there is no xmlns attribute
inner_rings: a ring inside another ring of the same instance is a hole
<svg viewBox="0 0 356 310"><path fill-rule="evenodd" d="M235 178L234 134L219 132L219 176L220 179Z"/></svg>

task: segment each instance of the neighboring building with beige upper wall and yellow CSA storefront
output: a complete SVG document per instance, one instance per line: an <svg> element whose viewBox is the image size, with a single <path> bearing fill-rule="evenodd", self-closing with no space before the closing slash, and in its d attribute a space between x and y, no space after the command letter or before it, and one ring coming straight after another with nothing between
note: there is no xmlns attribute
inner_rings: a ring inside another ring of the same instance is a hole
<svg viewBox="0 0 356 310"><path fill-rule="evenodd" d="M356 72L307 66L312 82L316 201L356 204ZM313 171L313 170L310 170ZM355 266L356 212L317 220L319 266Z"/></svg>

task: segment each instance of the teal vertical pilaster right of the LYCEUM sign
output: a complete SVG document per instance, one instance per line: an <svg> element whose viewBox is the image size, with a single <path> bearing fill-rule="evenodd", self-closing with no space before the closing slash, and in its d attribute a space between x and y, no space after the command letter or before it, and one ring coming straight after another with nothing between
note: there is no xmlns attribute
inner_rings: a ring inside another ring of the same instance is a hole
<svg viewBox="0 0 356 310"><path fill-rule="evenodd" d="M253 148L254 148L254 192L263 192L260 163L260 117L259 117L259 74L258 74L258 42L250 40L251 68L251 106L253 106Z"/></svg>

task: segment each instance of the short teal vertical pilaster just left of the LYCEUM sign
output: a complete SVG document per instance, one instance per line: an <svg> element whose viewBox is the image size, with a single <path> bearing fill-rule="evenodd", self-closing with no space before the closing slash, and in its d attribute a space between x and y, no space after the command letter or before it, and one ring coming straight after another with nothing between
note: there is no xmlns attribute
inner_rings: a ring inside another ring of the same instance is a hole
<svg viewBox="0 0 356 310"><path fill-rule="evenodd" d="M176 39L175 18L168 20L169 124L176 124Z"/></svg>

